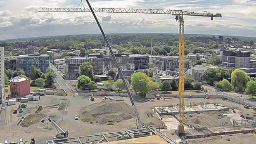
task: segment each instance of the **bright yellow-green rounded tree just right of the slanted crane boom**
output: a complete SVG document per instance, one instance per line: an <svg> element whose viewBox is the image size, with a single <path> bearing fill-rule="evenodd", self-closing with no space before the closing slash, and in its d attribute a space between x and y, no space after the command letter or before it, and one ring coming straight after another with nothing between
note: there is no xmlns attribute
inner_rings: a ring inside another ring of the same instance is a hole
<svg viewBox="0 0 256 144"><path fill-rule="evenodd" d="M131 80L133 90L135 90L136 92L142 92L144 94L147 93L150 80L146 73L135 73L133 74Z"/></svg>

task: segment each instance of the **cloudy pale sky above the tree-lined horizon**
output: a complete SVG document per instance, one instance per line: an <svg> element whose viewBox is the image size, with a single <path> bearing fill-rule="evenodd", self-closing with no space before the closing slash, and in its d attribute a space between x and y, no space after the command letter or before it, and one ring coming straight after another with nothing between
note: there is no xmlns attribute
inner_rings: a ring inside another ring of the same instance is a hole
<svg viewBox="0 0 256 144"><path fill-rule="evenodd" d="M38 12L76 8L81 0L0 0L0 40L100 33L91 13ZM88 7L83 0L85 7ZM256 37L256 0L90 0L92 7L175 9L221 13L223 18L184 17L185 33ZM79 6L81 7L81 5ZM178 33L171 15L96 13L105 33Z"/></svg>

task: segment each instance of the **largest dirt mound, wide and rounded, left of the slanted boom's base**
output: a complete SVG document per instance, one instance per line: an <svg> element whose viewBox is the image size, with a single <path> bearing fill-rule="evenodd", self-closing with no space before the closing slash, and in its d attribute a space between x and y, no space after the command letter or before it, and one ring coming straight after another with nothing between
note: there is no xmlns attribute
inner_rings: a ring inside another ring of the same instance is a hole
<svg viewBox="0 0 256 144"><path fill-rule="evenodd" d="M105 124L108 121L121 122L134 117L133 107L124 102L94 103L79 112L80 119L85 122L96 121Z"/></svg>

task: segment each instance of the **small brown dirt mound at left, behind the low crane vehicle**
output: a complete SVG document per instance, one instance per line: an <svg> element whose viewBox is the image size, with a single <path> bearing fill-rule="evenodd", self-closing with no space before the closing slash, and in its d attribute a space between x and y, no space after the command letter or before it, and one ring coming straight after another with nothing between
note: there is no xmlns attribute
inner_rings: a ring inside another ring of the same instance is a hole
<svg viewBox="0 0 256 144"><path fill-rule="evenodd" d="M34 123L40 122L42 118L44 118L45 114L31 114L26 116L24 120L21 122L22 127L29 127L29 125L33 125Z"/></svg>

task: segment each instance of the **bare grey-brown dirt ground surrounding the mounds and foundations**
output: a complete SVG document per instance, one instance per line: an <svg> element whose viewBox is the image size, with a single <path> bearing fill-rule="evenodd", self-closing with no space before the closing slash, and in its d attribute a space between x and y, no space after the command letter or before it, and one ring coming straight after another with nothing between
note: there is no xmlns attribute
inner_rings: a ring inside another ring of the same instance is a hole
<svg viewBox="0 0 256 144"><path fill-rule="evenodd" d="M252 109L244 109L242 105L231 103L228 101L222 101L220 99L186 99L188 102L221 102L225 106L235 107L239 109L239 113L250 113L253 115ZM0 142L8 140L9 142L17 142L20 138L28 140L33 137L36 140L36 144L43 144L46 140L51 140L57 131L52 123L47 121L47 118L52 118L56 123L63 128L63 130L69 131L69 137L78 137L84 135L100 134L104 132L116 132L121 130L130 130L136 128L135 118L123 120L114 125L106 124L90 124L90 122L83 122L74 120L75 115L79 115L81 109L88 107L91 104L101 102L101 97L95 98L95 102L90 102L89 97L63 97L63 96L43 96L38 102L28 102L28 106L23 109L23 113L12 114L15 106L7 106L3 109L0 115ZM131 107L130 101L124 101ZM157 102L136 102L137 109L140 113L142 122L146 125L154 125L159 127L164 123L159 120L152 109L155 106L168 106L174 105L178 102L178 99L161 100ZM58 110L62 103L66 103L61 110ZM19 103L17 103L19 104ZM43 110L38 114L43 114L45 123L41 121L33 123L28 127L21 127L17 125L17 120L21 115L25 118L31 114L35 114L36 105L39 104L43 107ZM208 143L207 143L208 144Z"/></svg>

